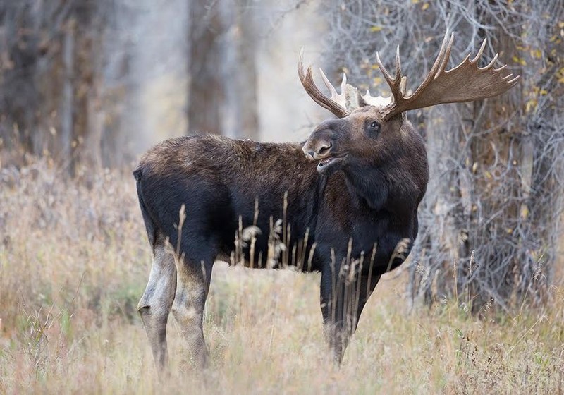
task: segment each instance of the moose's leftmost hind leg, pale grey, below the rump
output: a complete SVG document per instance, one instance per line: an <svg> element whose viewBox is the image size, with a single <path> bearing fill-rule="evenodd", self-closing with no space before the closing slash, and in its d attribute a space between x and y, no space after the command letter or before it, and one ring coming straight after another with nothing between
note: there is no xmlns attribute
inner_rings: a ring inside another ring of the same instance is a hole
<svg viewBox="0 0 564 395"><path fill-rule="evenodd" d="M163 370L168 364L166 322L171 312L176 290L176 265L174 257L166 251L164 241L157 241L147 288L137 305L154 361Z"/></svg>

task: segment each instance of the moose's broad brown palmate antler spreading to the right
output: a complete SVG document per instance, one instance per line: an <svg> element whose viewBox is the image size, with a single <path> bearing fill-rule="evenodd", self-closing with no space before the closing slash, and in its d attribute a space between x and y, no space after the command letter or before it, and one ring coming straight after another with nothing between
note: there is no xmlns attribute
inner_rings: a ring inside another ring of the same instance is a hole
<svg viewBox="0 0 564 395"><path fill-rule="evenodd" d="M391 97L372 97L367 92L367 95L362 96L362 99L367 104L381 107L384 119L390 119L394 115L412 109L421 109L443 103L471 102L472 100L501 95L517 83L520 78L519 75L514 78L512 78L513 74L501 76L501 71L507 66L506 64L500 68L494 68L498 54L487 66L478 66L478 61L486 47L486 39L482 42L482 47L480 47L474 59L470 59L470 54L468 54L458 66L445 71L453 41L454 33L448 39L447 30L439 56L431 67L431 71L412 95L405 95L407 76L401 75L399 47L396 50L395 76L388 73L376 52L376 62L390 86L392 95Z"/></svg>

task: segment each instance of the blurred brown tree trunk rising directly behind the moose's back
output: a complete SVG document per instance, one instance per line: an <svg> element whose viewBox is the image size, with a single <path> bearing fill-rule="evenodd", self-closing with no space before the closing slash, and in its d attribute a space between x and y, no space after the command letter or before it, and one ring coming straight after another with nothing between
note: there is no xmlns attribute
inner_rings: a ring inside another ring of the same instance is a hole
<svg viewBox="0 0 564 395"><path fill-rule="evenodd" d="M240 0L190 7L190 132L259 137L256 32Z"/></svg>

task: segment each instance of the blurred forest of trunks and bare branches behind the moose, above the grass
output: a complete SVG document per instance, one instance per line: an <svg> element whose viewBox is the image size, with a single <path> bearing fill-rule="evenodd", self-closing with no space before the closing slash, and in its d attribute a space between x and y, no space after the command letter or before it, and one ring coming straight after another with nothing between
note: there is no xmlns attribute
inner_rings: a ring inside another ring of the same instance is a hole
<svg viewBox="0 0 564 395"><path fill-rule="evenodd" d="M300 86L300 47L374 93L376 51L391 66L400 44L415 89L447 27L450 66L487 37L483 65L499 52L517 87L408 114L431 166L410 299L544 303L562 262L563 13L562 0L0 1L0 163L47 157L88 178L190 132L303 140L329 114Z"/></svg>

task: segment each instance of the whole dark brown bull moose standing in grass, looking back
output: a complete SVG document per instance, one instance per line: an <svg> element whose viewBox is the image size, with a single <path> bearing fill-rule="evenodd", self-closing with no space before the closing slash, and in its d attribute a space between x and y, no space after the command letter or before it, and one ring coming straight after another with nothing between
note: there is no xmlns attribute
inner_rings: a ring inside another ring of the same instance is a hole
<svg viewBox="0 0 564 395"><path fill-rule="evenodd" d="M171 311L195 364L209 363L202 317L214 261L229 260L239 245L246 265L273 267L267 265L269 245L273 222L281 219L290 230L283 237L286 251L302 251L286 264L321 272L324 334L341 363L381 275L402 264L417 237L429 170L424 140L406 111L501 95L519 78L502 77L507 65L495 68L497 55L479 67L485 39L477 56L447 71L453 39L447 31L429 74L412 93L399 47L394 75L376 53L389 97L360 95L344 74L337 92L320 69L331 92L324 95L301 53L305 91L336 116L305 142L189 135L145 153L133 174L153 260L138 310L160 370L168 362ZM253 243L235 243L241 229L255 229Z"/></svg>

